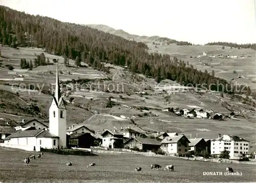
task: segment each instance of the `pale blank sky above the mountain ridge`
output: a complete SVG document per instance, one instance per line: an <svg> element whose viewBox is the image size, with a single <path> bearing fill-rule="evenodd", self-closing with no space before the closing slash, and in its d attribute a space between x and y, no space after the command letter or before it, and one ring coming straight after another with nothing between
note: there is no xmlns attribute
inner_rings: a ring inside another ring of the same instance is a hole
<svg viewBox="0 0 256 183"><path fill-rule="evenodd" d="M0 0L0 5L79 24L195 44L256 43L256 0Z"/></svg>

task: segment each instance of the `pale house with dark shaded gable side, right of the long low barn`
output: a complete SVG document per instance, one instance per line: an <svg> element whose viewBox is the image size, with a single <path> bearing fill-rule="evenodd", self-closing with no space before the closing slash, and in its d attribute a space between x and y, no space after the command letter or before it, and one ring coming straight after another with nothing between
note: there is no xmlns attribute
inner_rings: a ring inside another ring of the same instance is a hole
<svg viewBox="0 0 256 183"><path fill-rule="evenodd" d="M161 150L167 154L185 154L190 141L184 135L166 137L161 142Z"/></svg>

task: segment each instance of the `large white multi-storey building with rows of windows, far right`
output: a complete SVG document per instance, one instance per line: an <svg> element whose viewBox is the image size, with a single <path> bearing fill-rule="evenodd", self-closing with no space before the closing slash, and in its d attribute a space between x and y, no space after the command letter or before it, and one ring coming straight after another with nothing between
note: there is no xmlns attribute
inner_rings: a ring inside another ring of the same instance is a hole
<svg viewBox="0 0 256 183"><path fill-rule="evenodd" d="M230 159L239 158L249 151L249 141L238 136L219 134L217 139L211 140L211 154L220 155L224 149L229 151Z"/></svg>

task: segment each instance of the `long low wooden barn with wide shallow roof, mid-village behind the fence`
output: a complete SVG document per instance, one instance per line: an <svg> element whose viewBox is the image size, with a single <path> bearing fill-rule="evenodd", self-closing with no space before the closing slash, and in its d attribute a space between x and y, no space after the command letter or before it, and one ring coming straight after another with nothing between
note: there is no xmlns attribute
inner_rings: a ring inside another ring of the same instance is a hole
<svg viewBox="0 0 256 183"><path fill-rule="evenodd" d="M141 150L158 149L161 146L160 141L151 138L139 138L132 137L123 143L124 147L135 148L138 147Z"/></svg>

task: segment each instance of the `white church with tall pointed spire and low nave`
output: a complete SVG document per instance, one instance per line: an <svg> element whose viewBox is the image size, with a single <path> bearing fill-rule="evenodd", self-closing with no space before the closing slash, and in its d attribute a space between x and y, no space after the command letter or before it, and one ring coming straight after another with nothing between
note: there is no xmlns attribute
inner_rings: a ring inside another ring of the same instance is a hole
<svg viewBox="0 0 256 183"><path fill-rule="evenodd" d="M40 151L40 148L67 148L67 109L60 94L58 66L56 69L55 94L49 109L49 131L47 129L18 130L4 139L1 146Z"/></svg>

